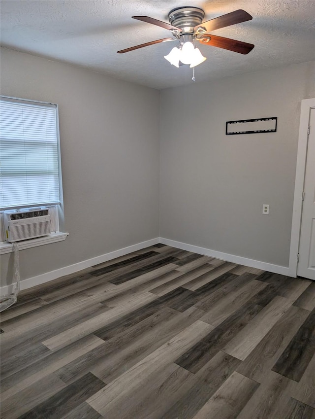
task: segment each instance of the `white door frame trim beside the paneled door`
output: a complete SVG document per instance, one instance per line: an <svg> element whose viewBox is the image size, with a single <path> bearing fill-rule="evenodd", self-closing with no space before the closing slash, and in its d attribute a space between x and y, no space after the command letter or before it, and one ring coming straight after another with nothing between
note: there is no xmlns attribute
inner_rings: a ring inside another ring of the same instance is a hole
<svg viewBox="0 0 315 419"><path fill-rule="evenodd" d="M302 219L302 195L304 189L304 176L306 169L306 155L308 145L308 126L310 123L310 111L315 107L315 98L301 101L301 116L299 140L296 159L295 187L293 200L292 229L289 256L289 277L297 276L297 255L300 244L301 219Z"/></svg>

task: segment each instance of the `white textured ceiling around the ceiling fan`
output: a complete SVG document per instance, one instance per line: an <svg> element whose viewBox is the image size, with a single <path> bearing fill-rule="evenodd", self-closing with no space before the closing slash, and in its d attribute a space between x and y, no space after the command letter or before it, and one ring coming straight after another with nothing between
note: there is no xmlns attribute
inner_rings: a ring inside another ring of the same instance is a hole
<svg viewBox="0 0 315 419"><path fill-rule="evenodd" d="M116 52L172 36L131 16L168 22L168 12L180 6L201 7L204 20L237 9L253 17L214 32L255 44L248 55L198 45L207 60L195 68L197 81L315 60L314 0L3 0L1 45L157 89L190 84L192 69L163 58L178 41Z"/></svg>

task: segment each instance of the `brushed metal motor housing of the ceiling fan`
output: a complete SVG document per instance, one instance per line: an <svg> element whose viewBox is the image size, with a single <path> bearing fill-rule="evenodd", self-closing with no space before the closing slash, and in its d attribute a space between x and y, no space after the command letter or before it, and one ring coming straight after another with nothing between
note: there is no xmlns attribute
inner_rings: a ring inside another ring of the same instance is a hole
<svg viewBox="0 0 315 419"><path fill-rule="evenodd" d="M168 14L168 20L171 25L182 30L184 34L193 34L193 28L200 25L205 17L205 12L199 7L177 7Z"/></svg>

